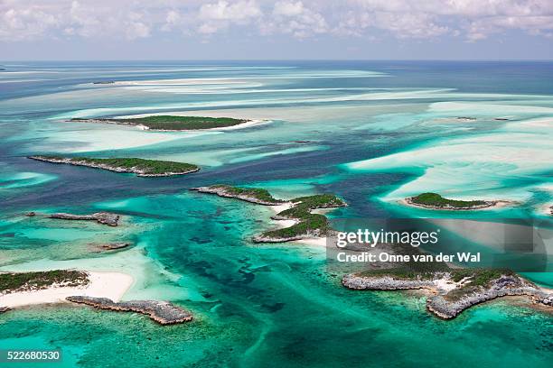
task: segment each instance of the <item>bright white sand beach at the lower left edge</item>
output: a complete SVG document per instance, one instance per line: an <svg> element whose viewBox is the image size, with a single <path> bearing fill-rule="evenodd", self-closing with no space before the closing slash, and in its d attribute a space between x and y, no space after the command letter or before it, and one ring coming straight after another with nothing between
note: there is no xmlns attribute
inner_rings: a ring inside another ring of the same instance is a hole
<svg viewBox="0 0 553 368"><path fill-rule="evenodd" d="M127 273L97 271L88 271L87 273L89 275L87 285L79 287L52 286L43 290L20 291L0 295L0 307L17 308L36 304L68 302L65 298L74 295L119 301L134 282L133 277Z"/></svg>

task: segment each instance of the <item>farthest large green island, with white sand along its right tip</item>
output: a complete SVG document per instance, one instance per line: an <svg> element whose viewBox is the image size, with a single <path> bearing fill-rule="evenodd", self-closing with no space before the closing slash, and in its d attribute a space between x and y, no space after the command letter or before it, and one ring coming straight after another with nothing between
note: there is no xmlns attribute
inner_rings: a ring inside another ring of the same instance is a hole
<svg viewBox="0 0 553 368"><path fill-rule="evenodd" d="M155 131L190 131L228 128L253 121L232 117L151 115L128 118L73 118L70 122L135 125L141 129Z"/></svg>

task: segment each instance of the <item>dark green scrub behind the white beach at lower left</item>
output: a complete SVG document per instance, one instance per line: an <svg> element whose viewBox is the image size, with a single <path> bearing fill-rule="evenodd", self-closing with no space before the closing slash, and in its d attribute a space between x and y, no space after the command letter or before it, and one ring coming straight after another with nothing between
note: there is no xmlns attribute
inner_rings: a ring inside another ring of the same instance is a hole
<svg viewBox="0 0 553 368"><path fill-rule="evenodd" d="M41 290L52 285L79 286L89 283L83 271L54 270L35 272L0 273L0 293L15 291Z"/></svg>

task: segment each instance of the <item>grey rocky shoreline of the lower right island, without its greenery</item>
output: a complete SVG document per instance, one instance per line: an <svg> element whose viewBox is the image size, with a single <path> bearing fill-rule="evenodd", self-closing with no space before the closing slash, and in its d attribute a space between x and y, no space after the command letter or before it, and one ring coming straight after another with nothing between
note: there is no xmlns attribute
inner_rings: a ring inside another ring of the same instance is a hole
<svg viewBox="0 0 553 368"><path fill-rule="evenodd" d="M440 284L448 284L449 290L440 287ZM432 280L347 274L342 278L342 285L352 290L431 290L436 295L426 299L426 309L444 319L455 318L464 309L476 304L507 296L527 296L535 303L553 307L553 291L542 290L516 274L501 274L486 286L466 290L463 282L451 281L449 272L436 272Z"/></svg>

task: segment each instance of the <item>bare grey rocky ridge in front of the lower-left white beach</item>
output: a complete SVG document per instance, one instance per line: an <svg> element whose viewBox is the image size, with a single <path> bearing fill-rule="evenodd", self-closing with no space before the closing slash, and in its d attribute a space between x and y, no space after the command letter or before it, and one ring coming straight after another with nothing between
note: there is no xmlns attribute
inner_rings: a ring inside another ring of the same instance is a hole
<svg viewBox="0 0 553 368"><path fill-rule="evenodd" d="M92 298L83 296L67 297L67 300L92 306L99 309L136 312L144 314L160 325L174 325L192 321L192 314L183 308L174 306L167 301L157 300L132 300L114 302L108 298Z"/></svg>

